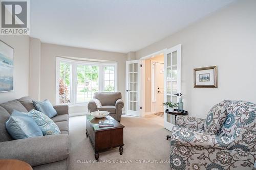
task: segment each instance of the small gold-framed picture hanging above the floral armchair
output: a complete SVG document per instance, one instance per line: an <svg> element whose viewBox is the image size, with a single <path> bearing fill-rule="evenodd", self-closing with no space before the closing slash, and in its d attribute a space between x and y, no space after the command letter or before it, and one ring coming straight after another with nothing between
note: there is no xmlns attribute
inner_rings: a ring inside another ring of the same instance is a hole
<svg viewBox="0 0 256 170"><path fill-rule="evenodd" d="M218 67L194 68L194 88L218 88Z"/></svg>

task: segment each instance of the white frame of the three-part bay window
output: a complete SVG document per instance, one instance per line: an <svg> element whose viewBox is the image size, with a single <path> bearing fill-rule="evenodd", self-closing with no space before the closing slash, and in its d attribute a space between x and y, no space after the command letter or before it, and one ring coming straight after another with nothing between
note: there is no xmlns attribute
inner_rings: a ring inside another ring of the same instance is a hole
<svg viewBox="0 0 256 170"><path fill-rule="evenodd" d="M59 66L60 62L71 64L71 83L70 83L70 103L59 103ZM55 103L58 105L85 105L88 102L77 103L77 65L93 65L99 66L99 91L104 91L104 67L114 66L114 90L118 91L118 63L117 62L94 62L72 60L62 57L56 57L56 88L55 88Z"/></svg>

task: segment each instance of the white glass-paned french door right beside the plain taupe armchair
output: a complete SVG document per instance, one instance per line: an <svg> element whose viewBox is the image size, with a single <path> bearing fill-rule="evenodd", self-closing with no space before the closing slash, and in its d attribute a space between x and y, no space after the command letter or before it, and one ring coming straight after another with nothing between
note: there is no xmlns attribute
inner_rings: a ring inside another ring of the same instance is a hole
<svg viewBox="0 0 256 170"><path fill-rule="evenodd" d="M125 114L141 116L140 111L140 60L126 61Z"/></svg>

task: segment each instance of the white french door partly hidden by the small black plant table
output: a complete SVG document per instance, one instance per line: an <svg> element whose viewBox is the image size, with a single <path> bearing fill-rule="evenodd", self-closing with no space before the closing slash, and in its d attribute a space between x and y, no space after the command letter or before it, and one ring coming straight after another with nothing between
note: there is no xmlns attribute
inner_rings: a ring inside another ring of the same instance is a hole
<svg viewBox="0 0 256 170"><path fill-rule="evenodd" d="M181 44L164 53L164 103L178 103L181 93ZM178 95L177 95L178 94ZM166 108L164 108L166 109ZM171 131L175 124L174 115L164 112L164 128Z"/></svg>

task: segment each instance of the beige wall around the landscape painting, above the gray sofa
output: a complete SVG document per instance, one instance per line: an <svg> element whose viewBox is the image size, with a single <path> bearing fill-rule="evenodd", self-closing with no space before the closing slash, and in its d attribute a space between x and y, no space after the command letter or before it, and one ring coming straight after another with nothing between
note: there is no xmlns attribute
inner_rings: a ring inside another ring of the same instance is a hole
<svg viewBox="0 0 256 170"><path fill-rule="evenodd" d="M0 103L29 94L29 37L0 36L0 40L14 48L14 91L0 93Z"/></svg>

